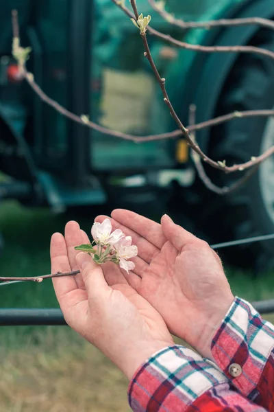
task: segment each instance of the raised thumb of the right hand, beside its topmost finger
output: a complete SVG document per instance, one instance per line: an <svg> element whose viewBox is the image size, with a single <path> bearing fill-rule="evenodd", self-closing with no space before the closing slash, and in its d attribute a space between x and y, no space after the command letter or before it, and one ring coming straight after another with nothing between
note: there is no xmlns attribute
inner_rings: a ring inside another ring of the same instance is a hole
<svg viewBox="0 0 274 412"><path fill-rule="evenodd" d="M162 216L161 225L164 236L178 251L181 251L186 243L199 240L183 227L176 225L166 214Z"/></svg>

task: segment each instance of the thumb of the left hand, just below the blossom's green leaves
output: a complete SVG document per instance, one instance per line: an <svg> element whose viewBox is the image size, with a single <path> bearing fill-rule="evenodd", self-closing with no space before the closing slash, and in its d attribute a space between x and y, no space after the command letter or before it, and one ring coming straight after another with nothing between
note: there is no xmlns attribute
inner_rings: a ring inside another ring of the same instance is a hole
<svg viewBox="0 0 274 412"><path fill-rule="evenodd" d="M95 263L90 255L83 252L78 253L76 262L82 273L88 299L103 297L105 293L108 293L109 286L105 282L101 266Z"/></svg>

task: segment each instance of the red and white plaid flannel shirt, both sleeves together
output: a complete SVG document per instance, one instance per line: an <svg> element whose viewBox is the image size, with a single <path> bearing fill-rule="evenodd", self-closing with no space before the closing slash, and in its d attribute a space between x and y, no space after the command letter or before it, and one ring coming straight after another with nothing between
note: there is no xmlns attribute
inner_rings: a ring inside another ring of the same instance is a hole
<svg viewBox="0 0 274 412"><path fill-rule="evenodd" d="M274 412L274 327L249 303L234 299L212 354L216 364L180 345L154 354L130 382L129 405L134 412Z"/></svg>

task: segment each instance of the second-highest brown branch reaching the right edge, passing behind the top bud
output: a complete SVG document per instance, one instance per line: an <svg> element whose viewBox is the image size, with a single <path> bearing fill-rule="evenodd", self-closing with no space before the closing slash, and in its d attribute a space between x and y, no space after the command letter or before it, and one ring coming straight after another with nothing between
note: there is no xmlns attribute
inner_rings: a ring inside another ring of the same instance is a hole
<svg viewBox="0 0 274 412"><path fill-rule="evenodd" d="M131 19L136 18L132 12L130 12L122 3L119 3L118 0L112 0L112 3L116 4L127 16ZM267 56L269 58L274 58L274 52L266 49L260 49L260 47L255 46L201 46L201 45L190 45L189 43L185 43L184 41L179 41L176 38L173 38L169 34L164 34L162 32L158 32L158 30L153 29L153 27L148 26L147 31L156 36L161 38L163 41L179 47L181 49L186 50L195 50L195 52L203 52L203 53L254 53L260 54L262 56Z"/></svg>

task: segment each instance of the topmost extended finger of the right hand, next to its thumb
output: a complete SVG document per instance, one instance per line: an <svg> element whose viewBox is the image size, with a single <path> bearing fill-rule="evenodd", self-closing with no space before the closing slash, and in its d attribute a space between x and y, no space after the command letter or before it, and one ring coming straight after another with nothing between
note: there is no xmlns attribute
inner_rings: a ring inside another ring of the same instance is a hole
<svg viewBox="0 0 274 412"><path fill-rule="evenodd" d="M161 225L145 218L145 216L125 209L114 209L111 216L114 220L121 223L121 225L132 229L138 233L138 235L142 236L142 238L145 238L155 247L158 247L158 249L161 249L166 242Z"/></svg>

